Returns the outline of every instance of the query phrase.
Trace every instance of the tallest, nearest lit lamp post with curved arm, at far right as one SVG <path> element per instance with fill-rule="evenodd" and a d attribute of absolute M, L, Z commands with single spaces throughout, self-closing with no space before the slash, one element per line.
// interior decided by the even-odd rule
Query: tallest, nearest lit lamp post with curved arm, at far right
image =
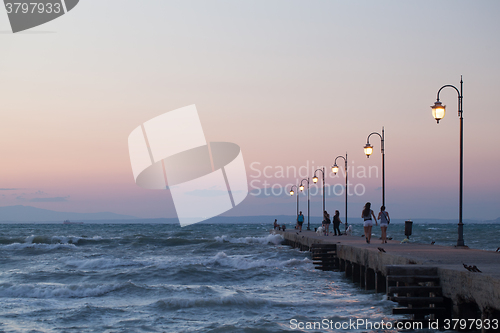
<path fill-rule="evenodd" d="M 463 182 L 464 182 L 464 127 L 463 127 L 463 109 L 462 109 L 462 100 L 463 100 L 463 86 L 464 82 L 462 80 L 462 76 L 460 76 L 460 90 L 457 87 L 447 84 L 439 88 L 437 93 L 437 99 L 432 108 L 432 116 L 436 119 L 437 123 L 444 118 L 446 113 L 446 105 L 442 105 L 439 101 L 439 93 L 443 88 L 450 87 L 455 89 L 458 93 L 458 117 L 460 118 L 460 194 L 459 194 L 459 205 L 458 205 L 458 240 L 457 246 L 465 246 L 464 243 L 464 224 L 462 222 L 462 202 L 463 202 Z"/>

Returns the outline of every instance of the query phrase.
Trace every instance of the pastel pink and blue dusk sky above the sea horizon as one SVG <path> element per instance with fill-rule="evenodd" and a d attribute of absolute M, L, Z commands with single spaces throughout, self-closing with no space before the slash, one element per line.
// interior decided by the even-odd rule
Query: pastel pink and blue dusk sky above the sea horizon
<path fill-rule="evenodd" d="M 442 91 L 439 125 L 430 106 L 463 75 L 464 218 L 495 219 L 499 14 L 498 1 L 82 0 L 13 34 L 0 10 L 0 206 L 176 217 L 169 191 L 135 184 L 127 138 L 196 104 L 207 141 L 238 144 L 245 161 L 250 194 L 224 215 L 293 215 L 289 185 L 346 152 L 349 216 L 378 208 L 381 142 L 370 158 L 363 146 L 384 127 L 387 210 L 456 219 L 456 91 Z M 311 189 L 311 215 L 321 202 Z"/>

